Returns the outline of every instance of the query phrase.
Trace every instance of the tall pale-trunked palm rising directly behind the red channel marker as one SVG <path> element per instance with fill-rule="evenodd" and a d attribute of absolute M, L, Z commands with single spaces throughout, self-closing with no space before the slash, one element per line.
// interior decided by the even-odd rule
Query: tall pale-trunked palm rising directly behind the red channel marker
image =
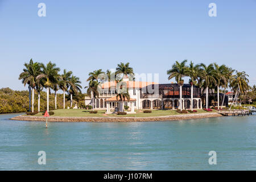
<path fill-rule="evenodd" d="M 47 65 L 41 64 L 42 66 L 42 73 L 37 76 L 37 78 L 44 79 L 44 86 L 47 90 L 47 111 L 49 112 L 49 88 L 57 82 L 58 72 L 60 71 L 60 68 L 56 67 L 55 63 L 52 63 L 49 61 Z"/>

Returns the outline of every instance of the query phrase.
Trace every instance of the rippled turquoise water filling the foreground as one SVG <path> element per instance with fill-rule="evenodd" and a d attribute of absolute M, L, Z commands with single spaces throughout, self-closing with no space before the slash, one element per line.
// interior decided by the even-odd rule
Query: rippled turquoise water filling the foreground
<path fill-rule="evenodd" d="M 256 170 L 256 115 L 48 129 L 8 120 L 15 115 L 0 114 L 0 170 Z M 212 150 L 216 165 L 208 164 Z"/>

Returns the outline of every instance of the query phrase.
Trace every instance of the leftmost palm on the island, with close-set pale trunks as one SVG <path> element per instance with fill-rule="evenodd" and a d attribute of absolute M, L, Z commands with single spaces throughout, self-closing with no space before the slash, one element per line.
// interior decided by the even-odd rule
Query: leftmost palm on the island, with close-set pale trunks
<path fill-rule="evenodd" d="M 19 80 L 22 79 L 24 86 L 26 84 L 29 85 L 29 90 L 32 88 L 32 112 L 34 113 L 34 97 L 35 97 L 35 87 L 36 87 L 36 77 L 40 74 L 40 63 L 33 62 L 30 60 L 30 63 L 25 63 L 24 66 L 26 68 L 23 69 L 23 72 L 19 75 Z M 31 95 L 31 91 L 30 91 Z M 30 103 L 31 103 L 31 96 L 30 96 Z"/>

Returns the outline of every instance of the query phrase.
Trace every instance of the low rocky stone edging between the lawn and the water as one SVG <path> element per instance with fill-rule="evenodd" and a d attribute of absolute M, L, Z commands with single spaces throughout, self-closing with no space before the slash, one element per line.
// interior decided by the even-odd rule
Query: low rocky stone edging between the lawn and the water
<path fill-rule="evenodd" d="M 150 121 L 175 121 L 184 119 L 200 119 L 222 117 L 218 113 L 167 115 L 160 117 L 48 117 L 48 122 L 150 122 Z M 19 115 L 11 118 L 19 121 L 46 121 L 45 117 Z"/>

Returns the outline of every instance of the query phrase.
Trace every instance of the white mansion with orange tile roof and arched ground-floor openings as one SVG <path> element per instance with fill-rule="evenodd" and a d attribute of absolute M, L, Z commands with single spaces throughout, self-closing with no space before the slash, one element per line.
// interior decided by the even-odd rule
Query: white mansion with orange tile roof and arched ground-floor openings
<path fill-rule="evenodd" d="M 130 113 L 134 109 L 178 109 L 179 107 L 179 86 L 177 84 L 158 84 L 155 82 L 129 81 L 126 82 L 130 101 L 124 104 L 129 106 Z M 94 101 L 94 109 L 104 109 L 107 113 L 119 108 L 117 92 L 115 92 L 116 82 L 104 82 L 99 98 Z M 153 91 L 153 92 L 152 92 Z M 184 84 L 182 88 L 183 109 L 191 109 L 191 85 Z M 92 105 L 92 98 L 85 97 L 85 105 Z M 193 86 L 193 109 L 202 109 L 201 89 Z"/>

